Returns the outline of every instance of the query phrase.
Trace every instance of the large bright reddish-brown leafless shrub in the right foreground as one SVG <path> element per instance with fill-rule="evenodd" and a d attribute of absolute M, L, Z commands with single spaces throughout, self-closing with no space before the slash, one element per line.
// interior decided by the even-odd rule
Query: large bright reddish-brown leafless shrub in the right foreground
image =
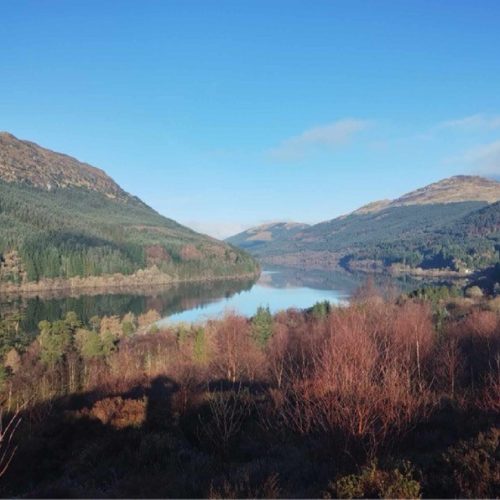
<path fill-rule="evenodd" d="M 300 433 L 341 430 L 382 444 L 427 406 L 421 359 L 432 338 L 430 312 L 419 304 L 365 302 L 334 311 L 328 334 L 308 351 L 313 369 L 289 372 L 282 419 Z"/>

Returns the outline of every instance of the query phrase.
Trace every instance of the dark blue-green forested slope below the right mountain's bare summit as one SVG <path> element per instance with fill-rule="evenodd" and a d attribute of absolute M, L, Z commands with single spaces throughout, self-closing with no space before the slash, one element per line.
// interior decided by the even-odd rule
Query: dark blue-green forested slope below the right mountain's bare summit
<path fill-rule="evenodd" d="M 250 250 L 263 257 L 332 252 L 348 269 L 357 261 L 375 261 L 383 267 L 465 271 L 498 263 L 499 249 L 500 203 L 461 202 L 354 213 Z"/>

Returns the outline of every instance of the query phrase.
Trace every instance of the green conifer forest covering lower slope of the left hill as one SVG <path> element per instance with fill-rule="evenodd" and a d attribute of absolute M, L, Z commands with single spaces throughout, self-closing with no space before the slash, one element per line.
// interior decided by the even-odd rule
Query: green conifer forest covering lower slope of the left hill
<path fill-rule="evenodd" d="M 175 278 L 256 272 L 243 252 L 199 235 L 129 197 L 0 182 L 0 282 L 132 274 Z"/>

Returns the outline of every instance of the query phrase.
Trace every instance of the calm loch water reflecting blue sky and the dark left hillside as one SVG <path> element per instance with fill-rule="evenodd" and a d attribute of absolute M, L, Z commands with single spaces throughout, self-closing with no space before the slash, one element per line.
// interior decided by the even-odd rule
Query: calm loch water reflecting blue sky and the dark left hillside
<path fill-rule="evenodd" d="M 95 315 L 123 316 L 129 311 L 139 315 L 149 309 L 158 311 L 163 318 L 161 324 L 198 322 L 217 318 L 226 311 L 251 316 L 259 306 L 269 306 L 276 312 L 291 307 L 307 308 L 324 300 L 338 303 L 348 299 L 365 278 L 340 271 L 268 268 L 257 282 L 188 283 L 159 289 L 133 289 L 132 293 L 114 289 L 75 296 L 0 296 L 0 317 L 21 313 L 22 331 L 27 335 L 37 332 L 39 321 L 55 321 L 68 311 L 75 311 L 85 323 Z M 409 286 L 403 283 L 400 288 Z"/>

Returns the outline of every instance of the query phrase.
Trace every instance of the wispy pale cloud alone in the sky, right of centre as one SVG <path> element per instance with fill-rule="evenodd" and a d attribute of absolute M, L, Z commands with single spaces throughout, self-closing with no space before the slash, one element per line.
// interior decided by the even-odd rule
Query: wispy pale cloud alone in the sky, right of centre
<path fill-rule="evenodd" d="M 293 161 L 315 147 L 335 148 L 348 143 L 352 137 L 371 125 L 369 120 L 346 118 L 333 123 L 313 127 L 299 135 L 289 137 L 269 150 L 269 155 L 280 161 Z"/>

